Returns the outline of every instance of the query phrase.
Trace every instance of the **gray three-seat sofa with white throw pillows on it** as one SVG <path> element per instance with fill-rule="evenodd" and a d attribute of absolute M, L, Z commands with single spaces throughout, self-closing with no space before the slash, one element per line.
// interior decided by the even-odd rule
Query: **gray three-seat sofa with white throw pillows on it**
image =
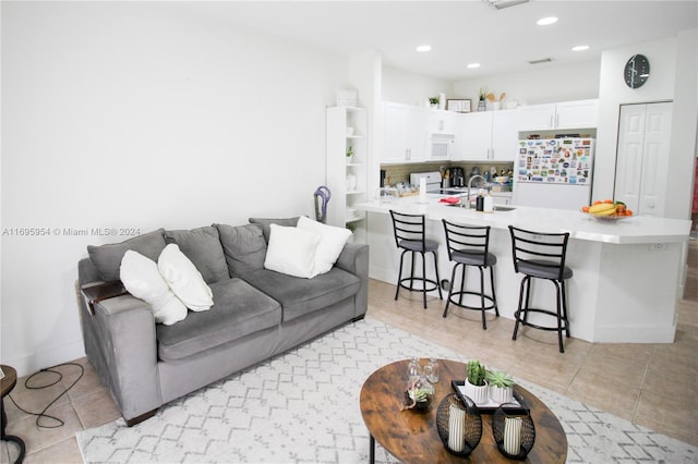
<path fill-rule="evenodd" d="M 264 268 L 269 224 L 298 218 L 250 219 L 194 230 L 157 230 L 122 243 L 89 246 L 79 262 L 80 288 L 119 280 L 127 249 L 153 260 L 176 242 L 213 291 L 210 310 L 156 323 L 148 305 L 124 294 L 80 298 L 85 352 L 128 425 L 157 408 L 297 346 L 346 322 L 368 306 L 369 247 L 347 243 L 329 272 L 302 279 Z"/>

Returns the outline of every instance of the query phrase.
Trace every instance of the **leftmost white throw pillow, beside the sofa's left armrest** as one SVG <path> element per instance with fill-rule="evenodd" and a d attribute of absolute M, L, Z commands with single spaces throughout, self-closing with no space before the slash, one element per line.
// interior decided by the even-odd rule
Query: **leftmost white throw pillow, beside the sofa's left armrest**
<path fill-rule="evenodd" d="M 129 249 L 121 258 L 120 274 L 129 293 L 151 305 L 156 322 L 171 326 L 186 317 L 186 306 L 172 293 L 153 259 Z"/>

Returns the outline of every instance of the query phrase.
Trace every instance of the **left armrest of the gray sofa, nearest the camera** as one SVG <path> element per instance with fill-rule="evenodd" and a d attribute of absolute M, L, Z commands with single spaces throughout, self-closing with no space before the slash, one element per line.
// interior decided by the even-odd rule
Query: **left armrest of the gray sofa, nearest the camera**
<path fill-rule="evenodd" d="M 143 301 L 122 295 L 94 305 L 94 316 L 83 313 L 85 351 L 101 366 L 124 419 L 130 420 L 163 404 L 157 366 L 155 318 Z M 89 345 L 87 343 L 89 339 Z M 93 362 L 93 364 L 95 364 Z"/>

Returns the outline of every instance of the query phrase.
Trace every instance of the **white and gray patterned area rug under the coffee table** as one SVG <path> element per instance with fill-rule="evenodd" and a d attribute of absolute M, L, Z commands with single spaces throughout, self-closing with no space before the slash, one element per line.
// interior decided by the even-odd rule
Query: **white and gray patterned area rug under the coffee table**
<path fill-rule="evenodd" d="M 79 432 L 77 442 L 86 463 L 368 462 L 361 386 L 375 369 L 410 356 L 467 361 L 366 319 L 163 406 L 135 427 L 118 419 Z M 559 418 L 567 462 L 698 461 L 696 447 L 521 384 Z M 376 462 L 396 462 L 377 443 L 375 455 Z"/>

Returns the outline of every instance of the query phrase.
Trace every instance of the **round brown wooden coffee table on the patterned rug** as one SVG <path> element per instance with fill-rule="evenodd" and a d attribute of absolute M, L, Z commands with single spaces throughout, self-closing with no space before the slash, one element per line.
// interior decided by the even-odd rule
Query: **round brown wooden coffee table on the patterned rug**
<path fill-rule="evenodd" d="M 421 359 L 422 365 L 424 359 Z M 434 398 L 424 412 L 400 411 L 405 401 L 407 365 L 404 359 L 388 364 L 373 373 L 361 388 L 360 405 L 363 422 L 371 434 L 371 463 L 374 462 L 375 442 L 402 462 L 444 463 L 462 462 L 450 454 L 438 437 L 436 410 L 441 401 L 453 393 L 452 380 L 465 380 L 466 365 L 438 359 L 441 379 L 434 383 Z M 535 395 L 515 387 L 516 393 L 531 411 L 535 425 L 535 444 L 527 456 L 531 463 L 564 463 L 567 459 L 567 437 L 557 417 Z M 492 414 L 482 414 L 482 438 L 470 454 L 472 462 L 514 462 L 497 449 L 492 437 Z"/>

